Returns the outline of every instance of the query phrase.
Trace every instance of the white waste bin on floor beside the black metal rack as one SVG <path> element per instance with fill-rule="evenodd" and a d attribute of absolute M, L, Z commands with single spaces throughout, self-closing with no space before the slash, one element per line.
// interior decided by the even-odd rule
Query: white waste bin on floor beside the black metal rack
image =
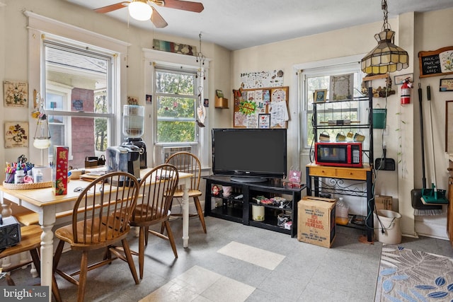
<path fill-rule="evenodd" d="M 377 210 L 377 215 L 374 213 L 374 235 L 382 243 L 401 243 L 401 214 L 396 211 Z"/>

